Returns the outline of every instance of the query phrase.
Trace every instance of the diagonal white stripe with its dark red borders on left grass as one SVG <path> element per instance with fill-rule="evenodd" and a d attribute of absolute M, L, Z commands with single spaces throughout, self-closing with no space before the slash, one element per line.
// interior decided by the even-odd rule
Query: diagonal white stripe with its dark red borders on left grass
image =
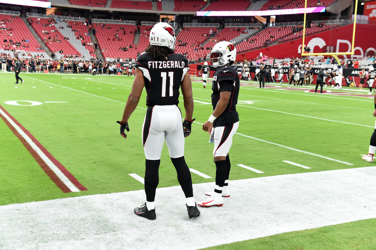
<path fill-rule="evenodd" d="M 38 162 L 43 171 L 64 192 L 79 192 L 87 189 L 45 149 L 29 131 L 0 105 L 0 117 Z"/>

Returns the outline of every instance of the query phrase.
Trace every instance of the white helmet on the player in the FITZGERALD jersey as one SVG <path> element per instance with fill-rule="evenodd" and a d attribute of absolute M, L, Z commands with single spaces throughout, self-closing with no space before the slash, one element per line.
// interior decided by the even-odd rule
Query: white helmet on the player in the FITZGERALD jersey
<path fill-rule="evenodd" d="M 150 45 L 166 46 L 170 49 L 174 49 L 175 41 L 175 30 L 167 23 L 157 23 L 150 30 Z"/>

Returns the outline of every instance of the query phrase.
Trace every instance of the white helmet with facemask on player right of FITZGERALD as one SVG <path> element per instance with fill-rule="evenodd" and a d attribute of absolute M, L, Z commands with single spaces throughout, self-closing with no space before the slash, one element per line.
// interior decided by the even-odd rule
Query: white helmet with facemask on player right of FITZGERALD
<path fill-rule="evenodd" d="M 218 68 L 224 66 L 229 62 L 235 62 L 236 59 L 236 48 L 235 46 L 227 41 L 221 41 L 214 45 L 212 51 L 210 52 L 209 63 L 210 66 Z"/>

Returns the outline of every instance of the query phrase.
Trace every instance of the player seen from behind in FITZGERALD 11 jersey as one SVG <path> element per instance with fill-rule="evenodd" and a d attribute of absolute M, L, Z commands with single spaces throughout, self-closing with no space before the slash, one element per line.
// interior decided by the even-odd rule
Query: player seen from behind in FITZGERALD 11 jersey
<path fill-rule="evenodd" d="M 158 168 L 161 152 L 166 142 L 171 161 L 177 172 L 177 179 L 186 197 L 186 208 L 190 218 L 200 215 L 194 202 L 190 170 L 184 159 L 184 137 L 191 133 L 193 123 L 192 83 L 188 60 L 182 54 L 174 53 L 174 29 L 167 23 L 156 24 L 150 30 L 150 45 L 137 57 L 135 80 L 124 109 L 120 134 L 126 138 L 128 120 L 139 102 L 145 87 L 147 111 L 142 128 L 142 140 L 146 156 L 145 193 L 146 202 L 134 209 L 136 215 L 154 220 L 155 190 L 158 186 Z M 181 87 L 185 120 L 177 107 Z"/>

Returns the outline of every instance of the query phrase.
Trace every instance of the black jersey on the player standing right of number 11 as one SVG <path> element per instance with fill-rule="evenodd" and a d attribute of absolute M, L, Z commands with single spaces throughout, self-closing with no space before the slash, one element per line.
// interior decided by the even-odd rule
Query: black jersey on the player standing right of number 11
<path fill-rule="evenodd" d="M 229 103 L 223 113 L 213 122 L 213 127 L 223 127 L 239 121 L 239 115 L 236 111 L 238 103 L 240 81 L 236 69 L 231 66 L 223 66 L 215 71 L 213 76 L 211 95 L 213 110 L 220 99 L 220 93 L 223 91 L 231 92 Z"/>

